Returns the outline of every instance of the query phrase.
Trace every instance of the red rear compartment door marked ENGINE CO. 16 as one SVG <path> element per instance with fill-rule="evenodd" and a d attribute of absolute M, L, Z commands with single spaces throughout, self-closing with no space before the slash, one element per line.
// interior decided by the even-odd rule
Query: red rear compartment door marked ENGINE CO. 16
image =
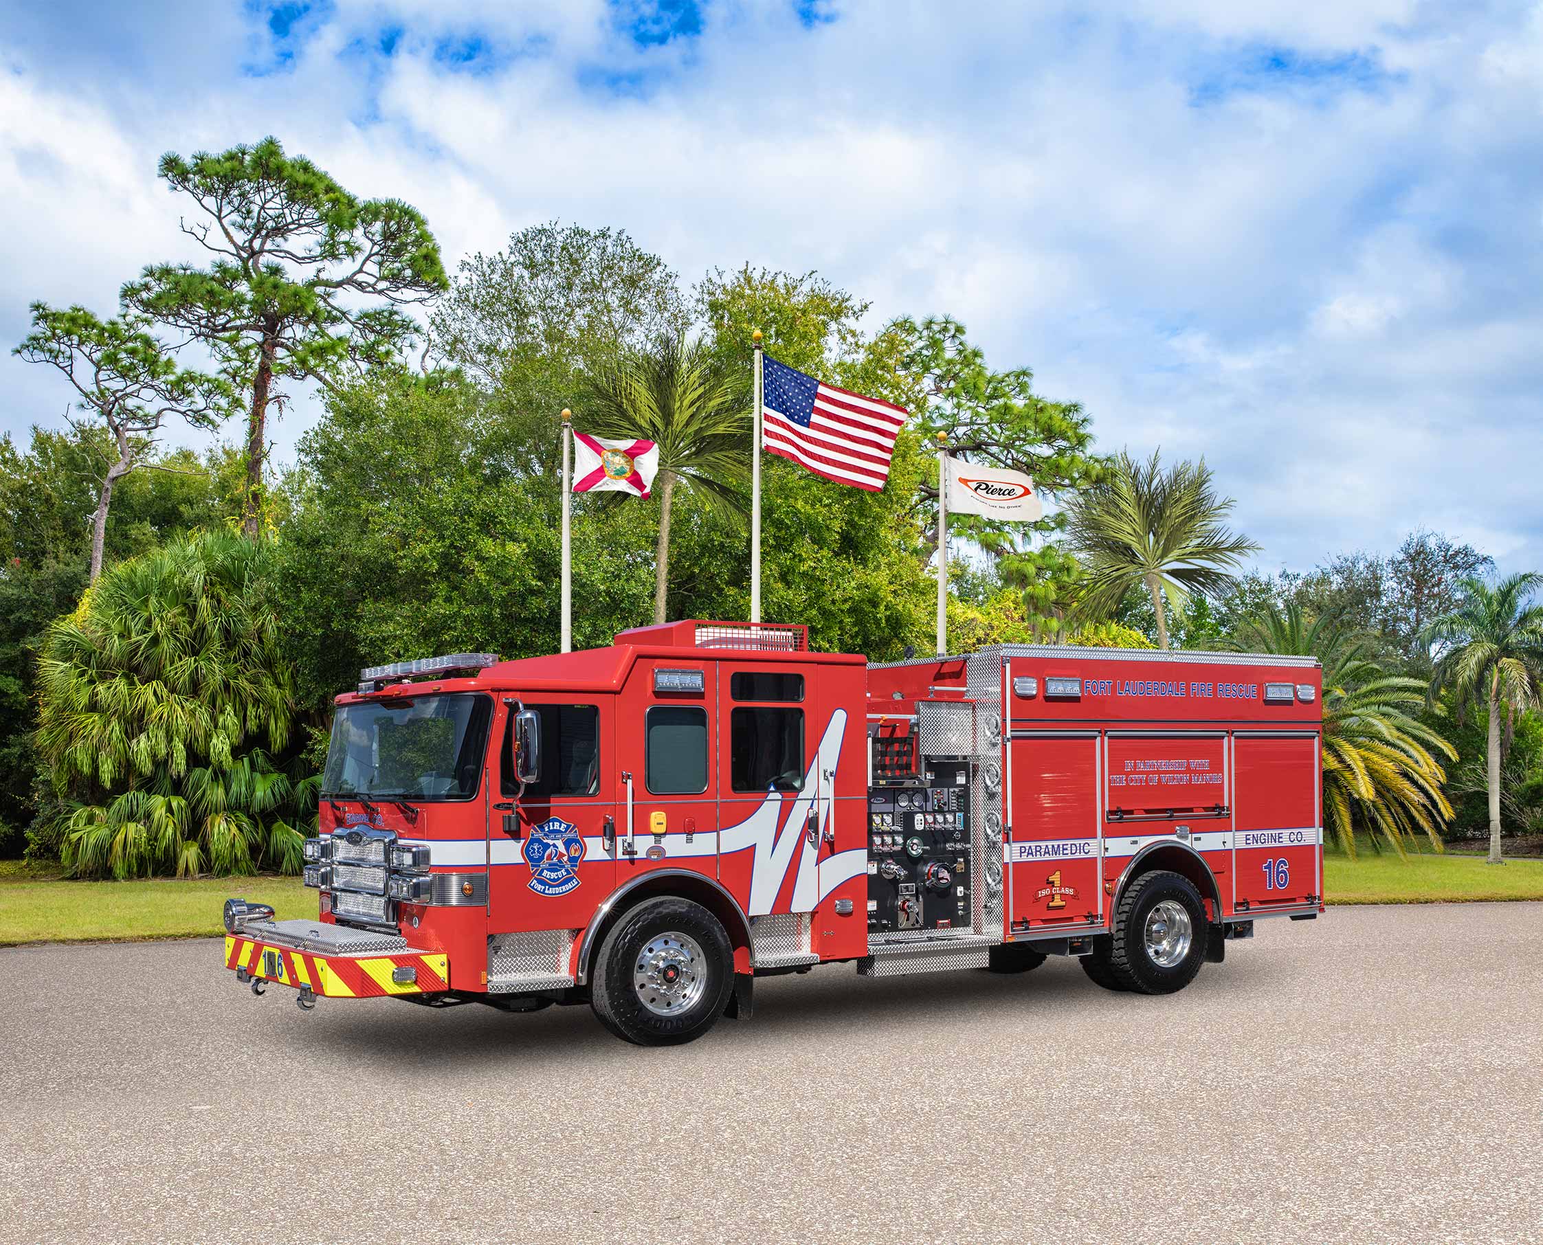
<path fill-rule="evenodd" d="M 1233 737 L 1233 779 L 1234 909 L 1316 903 L 1322 895 L 1318 736 L 1239 731 Z"/>

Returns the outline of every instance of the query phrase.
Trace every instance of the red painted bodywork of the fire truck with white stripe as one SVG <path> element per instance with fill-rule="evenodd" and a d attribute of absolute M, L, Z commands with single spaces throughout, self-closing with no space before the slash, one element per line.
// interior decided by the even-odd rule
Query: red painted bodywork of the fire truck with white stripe
<path fill-rule="evenodd" d="M 432 872 L 486 881 L 485 904 L 400 907 L 401 933 L 414 947 L 447 957 L 457 990 L 486 989 L 494 935 L 568 930 L 568 969 L 577 977 L 585 930 L 620 890 L 660 872 L 721 887 L 751 921 L 807 913 L 809 949 L 821 960 L 864 957 L 869 728 L 883 741 L 872 764 L 901 757 L 915 741 L 917 702 L 964 702 L 980 659 L 971 668 L 946 659 L 869 670 L 863 657 L 802 651 L 801 637 L 785 651 L 751 651 L 733 646 L 734 634 L 745 634 L 745 625 L 640 628 L 609 648 L 501 662 L 475 677 L 373 693 L 491 696 L 481 785 L 468 801 L 420 804 L 415 821 L 392 804 L 366 813 L 355 799 L 324 801 L 321 832 L 360 822 L 384 827 L 429 844 Z M 1001 779 L 1000 796 L 992 796 L 1003 821 L 994 849 L 1003 864 L 1001 929 L 984 932 L 1034 938 L 1103 929 L 1122 876 L 1153 850 L 1193 861 L 1214 918 L 1321 901 L 1316 668 L 1168 660 L 1139 651 L 1001 653 L 991 696 L 1001 720 L 989 731 L 984 719 L 977 724 L 974 753 L 981 771 L 995 767 Z M 704 690 L 656 693 L 660 668 L 702 671 Z M 734 673 L 801 674 L 802 699 L 734 699 Z M 1015 691 L 1021 679 L 1034 680 L 1034 694 Z M 1048 694 L 1049 679 L 1074 679 L 1077 694 Z M 1265 703 L 1267 682 L 1312 691 Z M 593 795 L 522 796 L 505 771 L 511 761 L 501 747 L 515 702 L 596 707 Z M 801 790 L 734 790 L 733 714 L 768 705 L 802 714 Z M 704 790 L 650 790 L 650 713 L 671 707 L 705 717 Z M 582 841 L 583 852 L 572 862 L 571 886 L 543 889 L 532 881 L 528 849 L 532 832 L 554 822 Z M 850 901 L 842 904 L 850 910 L 838 915 L 838 901 Z M 750 969 L 745 947 L 736 960 L 741 970 Z"/>

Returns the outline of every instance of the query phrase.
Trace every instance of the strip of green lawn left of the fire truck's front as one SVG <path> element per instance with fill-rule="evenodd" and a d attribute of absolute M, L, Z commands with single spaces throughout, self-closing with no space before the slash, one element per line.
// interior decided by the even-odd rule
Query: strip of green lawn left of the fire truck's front
<path fill-rule="evenodd" d="M 273 904 L 279 919 L 316 915 L 316 892 L 299 878 L 71 882 L 3 861 L 0 946 L 213 936 L 233 895 Z"/>

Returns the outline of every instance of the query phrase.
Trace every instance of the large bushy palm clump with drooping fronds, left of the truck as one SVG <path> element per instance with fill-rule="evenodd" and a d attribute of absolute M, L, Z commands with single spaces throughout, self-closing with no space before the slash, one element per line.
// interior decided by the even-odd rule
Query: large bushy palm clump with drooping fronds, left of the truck
<path fill-rule="evenodd" d="M 315 779 L 272 757 L 295 676 L 270 565 L 272 545 L 225 532 L 173 542 L 108 568 L 49 628 L 37 744 L 73 808 L 60 855 L 76 873 L 299 872 Z"/>

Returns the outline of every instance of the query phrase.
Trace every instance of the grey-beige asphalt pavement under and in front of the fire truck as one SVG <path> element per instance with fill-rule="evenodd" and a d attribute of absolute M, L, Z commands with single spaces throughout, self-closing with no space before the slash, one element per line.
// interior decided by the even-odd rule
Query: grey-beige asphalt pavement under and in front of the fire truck
<path fill-rule="evenodd" d="M 0 952 L 0 1242 L 1543 1240 L 1543 904 L 1261 921 L 1187 990 L 756 986 L 586 1007 L 264 998 L 221 943 Z"/>

